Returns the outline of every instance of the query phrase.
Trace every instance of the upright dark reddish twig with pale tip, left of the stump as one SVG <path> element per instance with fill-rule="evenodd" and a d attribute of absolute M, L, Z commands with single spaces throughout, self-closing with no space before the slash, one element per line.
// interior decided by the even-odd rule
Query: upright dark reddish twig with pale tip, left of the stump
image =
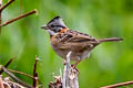
<path fill-rule="evenodd" d="M 38 85 L 38 73 L 37 73 L 38 61 L 39 61 L 39 58 L 35 57 L 35 63 L 34 63 L 34 67 L 33 67 L 33 88 L 37 88 L 37 85 Z"/>

